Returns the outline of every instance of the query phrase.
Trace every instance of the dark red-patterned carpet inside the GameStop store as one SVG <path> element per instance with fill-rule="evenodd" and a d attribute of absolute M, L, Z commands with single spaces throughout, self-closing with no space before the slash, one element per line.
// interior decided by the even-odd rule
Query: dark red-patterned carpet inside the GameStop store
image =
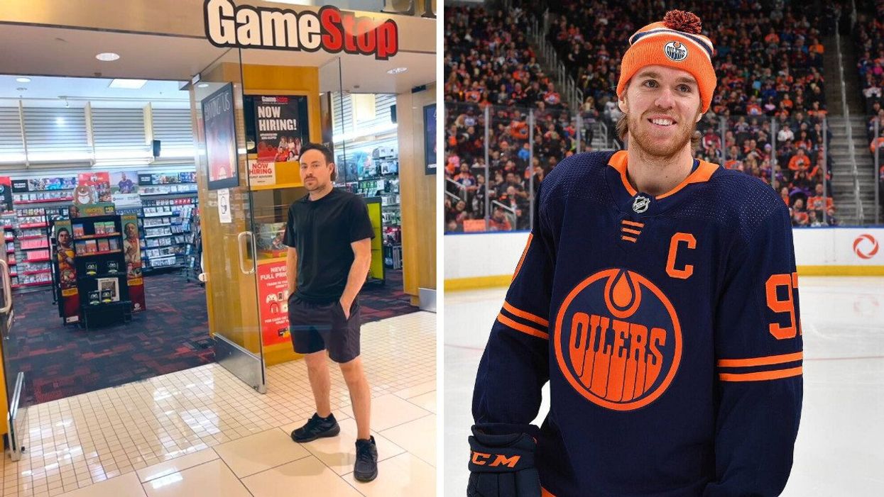
<path fill-rule="evenodd" d="M 6 373 L 25 372 L 27 405 L 145 380 L 213 362 L 205 290 L 176 273 L 144 279 L 148 311 L 127 325 L 63 326 L 49 291 L 16 295 L 15 324 L 4 341 Z M 164 289 L 174 288 L 174 292 Z M 363 322 L 418 310 L 402 291 L 402 272 L 360 295 Z M 10 379 L 11 380 L 11 379 Z"/>

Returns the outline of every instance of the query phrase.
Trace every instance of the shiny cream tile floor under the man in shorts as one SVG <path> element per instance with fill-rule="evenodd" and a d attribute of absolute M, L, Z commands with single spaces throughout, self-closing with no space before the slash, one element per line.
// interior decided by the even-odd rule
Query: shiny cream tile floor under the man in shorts
<path fill-rule="evenodd" d="M 35 405 L 25 457 L 3 458 L 3 497 L 434 495 L 436 315 L 362 327 L 378 477 L 353 478 L 355 421 L 331 364 L 341 433 L 294 443 L 315 410 L 307 368 L 267 369 L 260 395 L 217 364 Z"/>

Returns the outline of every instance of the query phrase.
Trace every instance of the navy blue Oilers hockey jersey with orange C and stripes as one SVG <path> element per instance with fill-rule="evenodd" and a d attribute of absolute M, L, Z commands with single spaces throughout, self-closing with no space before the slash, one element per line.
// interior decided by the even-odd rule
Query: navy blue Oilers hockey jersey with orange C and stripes
<path fill-rule="evenodd" d="M 709 162 L 657 197 L 626 171 L 626 151 L 596 152 L 545 178 L 476 425 L 532 433 L 555 497 L 777 495 L 802 400 L 789 210 Z"/>

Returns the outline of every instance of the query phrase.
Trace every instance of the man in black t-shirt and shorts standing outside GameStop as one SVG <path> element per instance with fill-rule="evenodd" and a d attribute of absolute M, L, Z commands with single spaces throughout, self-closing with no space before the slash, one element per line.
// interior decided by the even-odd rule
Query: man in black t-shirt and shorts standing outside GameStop
<path fill-rule="evenodd" d="M 335 190 L 331 151 L 322 145 L 301 148 L 301 181 L 309 192 L 288 208 L 286 268 L 288 319 L 294 351 L 304 354 L 316 414 L 292 432 L 308 442 L 333 437 L 340 427 L 331 414 L 328 357 L 340 365 L 356 418 L 354 477 L 377 477 L 377 448 L 369 428 L 371 390 L 359 357 L 359 302 L 369 273 L 374 230 L 365 202 Z"/>

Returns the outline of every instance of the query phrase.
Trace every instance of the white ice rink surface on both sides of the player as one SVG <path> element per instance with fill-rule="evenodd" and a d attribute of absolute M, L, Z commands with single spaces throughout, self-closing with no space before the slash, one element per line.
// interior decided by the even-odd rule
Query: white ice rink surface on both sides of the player
<path fill-rule="evenodd" d="M 803 277 L 804 407 L 783 495 L 884 495 L 884 278 Z M 506 289 L 445 296 L 445 488 L 466 494 L 476 367 Z M 544 388 L 540 417 L 549 409 Z"/>

